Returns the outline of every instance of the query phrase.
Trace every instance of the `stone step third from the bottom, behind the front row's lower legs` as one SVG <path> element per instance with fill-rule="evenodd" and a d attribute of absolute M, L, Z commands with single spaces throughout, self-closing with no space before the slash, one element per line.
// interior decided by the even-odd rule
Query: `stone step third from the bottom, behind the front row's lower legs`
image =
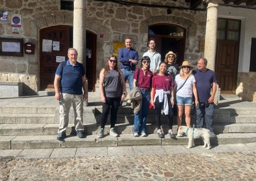
<path fill-rule="evenodd" d="M 84 123 L 93 124 L 100 123 L 101 114 L 96 114 L 91 110 L 84 111 Z M 150 114 L 147 117 L 147 123 L 155 123 L 154 114 Z M 184 120 L 183 116 L 183 120 Z M 167 122 L 168 118 L 166 116 L 161 117 L 162 122 Z M 173 117 L 174 123 L 176 123 L 177 117 Z M 59 114 L 0 114 L 0 124 L 58 124 Z M 110 115 L 108 118 L 108 123 L 110 122 Z M 194 115 L 191 114 L 191 122 L 194 122 Z M 70 123 L 74 123 L 74 114 L 70 112 Z M 133 114 L 118 114 L 118 120 L 116 123 L 131 123 L 134 124 L 134 115 Z M 239 115 L 239 116 L 230 116 L 226 112 L 216 111 L 214 115 L 214 123 L 256 123 L 256 114 L 255 115 Z"/>

